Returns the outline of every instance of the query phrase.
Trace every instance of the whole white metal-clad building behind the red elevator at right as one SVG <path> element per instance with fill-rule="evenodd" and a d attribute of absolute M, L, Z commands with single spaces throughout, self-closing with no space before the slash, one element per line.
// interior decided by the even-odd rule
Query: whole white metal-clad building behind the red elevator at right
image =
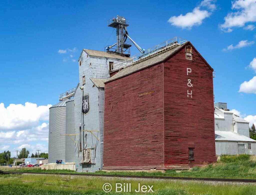
<path fill-rule="evenodd" d="M 249 122 L 227 109 L 227 103 L 215 103 L 216 155 L 256 154 L 256 140 L 250 138 Z"/>

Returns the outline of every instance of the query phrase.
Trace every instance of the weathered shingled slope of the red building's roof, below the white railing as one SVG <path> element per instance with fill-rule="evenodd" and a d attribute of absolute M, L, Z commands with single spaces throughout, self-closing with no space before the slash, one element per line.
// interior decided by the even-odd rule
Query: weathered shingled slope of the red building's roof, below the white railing
<path fill-rule="evenodd" d="M 153 56 L 151 58 L 145 59 L 143 61 L 142 60 L 135 61 L 131 65 L 125 67 L 124 69 L 120 70 L 118 73 L 116 73 L 115 75 L 110 77 L 108 79 L 108 81 L 106 81 L 105 83 L 110 82 L 110 81 L 115 80 L 115 79 L 118 79 L 119 77 L 123 77 L 123 76 L 129 75 L 129 74 L 131 74 L 133 72 L 137 72 L 138 70 L 144 69 L 144 68 L 146 68 L 148 66 L 151 66 L 153 64 L 162 62 L 167 57 L 169 57 L 170 55 L 175 53 L 175 51 L 177 51 L 178 49 L 183 47 L 186 43 L 181 44 L 181 45 L 173 46 L 171 49 L 166 50 L 163 53 L 159 53 L 159 54 L 157 54 L 157 55 L 155 55 L 155 56 Z"/>

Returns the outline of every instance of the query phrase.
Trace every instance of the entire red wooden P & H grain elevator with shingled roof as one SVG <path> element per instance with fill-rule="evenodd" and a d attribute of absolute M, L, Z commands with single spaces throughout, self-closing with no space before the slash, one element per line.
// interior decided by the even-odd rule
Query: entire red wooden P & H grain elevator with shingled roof
<path fill-rule="evenodd" d="M 112 72 L 105 83 L 103 169 L 214 163 L 212 73 L 190 42 Z"/>

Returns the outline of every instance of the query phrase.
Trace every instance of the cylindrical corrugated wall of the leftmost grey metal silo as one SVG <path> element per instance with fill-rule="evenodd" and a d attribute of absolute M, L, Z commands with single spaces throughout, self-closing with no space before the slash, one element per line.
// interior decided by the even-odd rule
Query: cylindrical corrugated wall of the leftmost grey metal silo
<path fill-rule="evenodd" d="M 50 108 L 49 113 L 49 163 L 65 162 L 66 106 Z"/>

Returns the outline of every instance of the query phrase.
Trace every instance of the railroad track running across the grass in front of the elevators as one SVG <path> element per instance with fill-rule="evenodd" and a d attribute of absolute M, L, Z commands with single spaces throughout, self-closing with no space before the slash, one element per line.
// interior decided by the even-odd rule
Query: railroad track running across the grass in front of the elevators
<path fill-rule="evenodd" d="M 94 177 L 120 177 L 138 179 L 172 179 L 172 180 L 196 180 L 196 181 L 222 181 L 222 182 L 241 182 L 256 183 L 256 179 L 221 179 L 221 178 L 195 178 L 195 177 L 160 177 L 160 176 L 132 176 L 132 175 L 98 175 L 98 174 L 75 174 L 75 173 L 42 173 L 42 172 L 13 172 L 4 171 L 0 174 L 51 174 L 51 175 L 75 175 L 75 176 L 94 176 Z"/>

